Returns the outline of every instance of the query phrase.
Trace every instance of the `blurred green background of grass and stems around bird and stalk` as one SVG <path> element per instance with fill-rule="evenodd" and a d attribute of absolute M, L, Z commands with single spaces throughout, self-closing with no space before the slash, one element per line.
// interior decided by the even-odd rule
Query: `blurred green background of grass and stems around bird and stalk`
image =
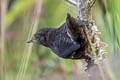
<path fill-rule="evenodd" d="M 97 74 L 89 78 L 81 60 L 64 60 L 44 46 L 26 44 L 36 30 L 63 24 L 67 13 L 76 17 L 73 6 L 64 0 L 0 3 L 1 80 L 101 80 Z M 120 0 L 97 0 L 92 9 L 93 20 L 102 32 L 100 38 L 108 44 L 105 71 L 102 70 L 104 80 L 120 79 L 119 4 Z"/>

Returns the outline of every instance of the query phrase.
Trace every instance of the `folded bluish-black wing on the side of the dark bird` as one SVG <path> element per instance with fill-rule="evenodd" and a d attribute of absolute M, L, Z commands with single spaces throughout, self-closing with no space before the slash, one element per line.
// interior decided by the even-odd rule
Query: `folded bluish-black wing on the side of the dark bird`
<path fill-rule="evenodd" d="M 73 52 L 78 48 L 80 48 L 80 45 L 73 42 L 67 33 L 65 33 L 59 35 L 59 40 L 56 39 L 52 50 L 62 58 L 72 58 Z"/>

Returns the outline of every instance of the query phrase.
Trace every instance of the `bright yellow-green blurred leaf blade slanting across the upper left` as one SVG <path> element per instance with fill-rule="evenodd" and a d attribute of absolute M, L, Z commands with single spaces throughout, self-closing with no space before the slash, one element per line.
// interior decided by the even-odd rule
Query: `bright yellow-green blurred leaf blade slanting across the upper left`
<path fill-rule="evenodd" d="M 35 0 L 19 0 L 15 1 L 12 8 L 6 14 L 6 24 L 9 26 L 27 7 L 32 5 Z"/>

